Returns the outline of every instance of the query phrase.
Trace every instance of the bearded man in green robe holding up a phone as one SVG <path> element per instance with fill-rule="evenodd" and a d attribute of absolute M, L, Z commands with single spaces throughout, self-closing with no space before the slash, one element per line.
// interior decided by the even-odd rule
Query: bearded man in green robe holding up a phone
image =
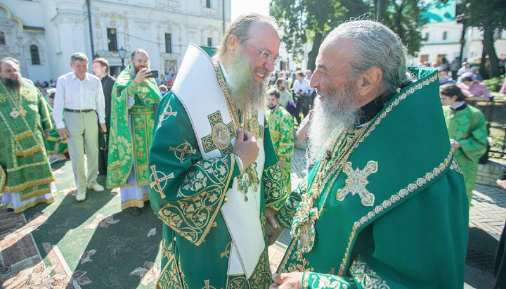
<path fill-rule="evenodd" d="M 121 208 L 134 215 L 149 200 L 148 153 L 161 96 L 151 78 L 148 53 L 137 49 L 111 94 L 108 188 L 119 187 Z"/>

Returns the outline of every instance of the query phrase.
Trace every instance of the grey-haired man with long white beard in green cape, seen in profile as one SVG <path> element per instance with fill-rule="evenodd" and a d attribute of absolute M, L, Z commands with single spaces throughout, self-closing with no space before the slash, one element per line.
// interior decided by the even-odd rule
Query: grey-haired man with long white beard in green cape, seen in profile
<path fill-rule="evenodd" d="M 316 166 L 278 214 L 292 241 L 271 288 L 462 288 L 468 209 L 437 70 L 399 37 L 339 25 L 316 59 Z"/>

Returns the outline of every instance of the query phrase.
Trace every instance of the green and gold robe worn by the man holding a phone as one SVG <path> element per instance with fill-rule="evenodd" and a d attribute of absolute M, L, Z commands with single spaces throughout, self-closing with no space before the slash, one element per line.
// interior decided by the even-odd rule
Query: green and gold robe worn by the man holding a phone
<path fill-rule="evenodd" d="M 136 186 L 149 184 L 148 152 L 153 138 L 155 107 L 161 96 L 154 79 L 146 79 L 139 85 L 134 78 L 129 65 L 119 74 L 112 87 L 108 188 L 126 186 L 126 179 L 134 165 Z M 135 101 L 131 108 L 129 96 Z"/>

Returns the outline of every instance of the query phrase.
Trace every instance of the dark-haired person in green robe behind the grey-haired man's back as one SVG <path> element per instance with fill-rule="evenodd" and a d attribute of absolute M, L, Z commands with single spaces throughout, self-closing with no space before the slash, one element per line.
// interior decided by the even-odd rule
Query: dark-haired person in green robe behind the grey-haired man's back
<path fill-rule="evenodd" d="M 466 96 L 455 84 L 439 88 L 453 156 L 464 173 L 467 199 L 471 205 L 472 191 L 478 172 L 478 160 L 486 151 L 485 116 L 478 108 L 465 103 Z"/>

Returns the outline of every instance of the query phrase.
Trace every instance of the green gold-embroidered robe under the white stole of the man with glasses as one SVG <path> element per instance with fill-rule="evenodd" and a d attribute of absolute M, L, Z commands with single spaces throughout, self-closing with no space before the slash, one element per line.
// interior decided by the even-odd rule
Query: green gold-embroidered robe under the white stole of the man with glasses
<path fill-rule="evenodd" d="M 264 150 L 259 218 L 266 242 L 265 206 L 280 207 L 287 195 L 267 128 Z M 271 284 L 267 249 L 249 279 L 227 275 L 231 235 L 220 208 L 238 176 L 232 154 L 202 159 L 190 118 L 169 91 L 157 110 L 150 149 L 150 203 L 164 223 L 160 288 L 267 288 Z"/>

